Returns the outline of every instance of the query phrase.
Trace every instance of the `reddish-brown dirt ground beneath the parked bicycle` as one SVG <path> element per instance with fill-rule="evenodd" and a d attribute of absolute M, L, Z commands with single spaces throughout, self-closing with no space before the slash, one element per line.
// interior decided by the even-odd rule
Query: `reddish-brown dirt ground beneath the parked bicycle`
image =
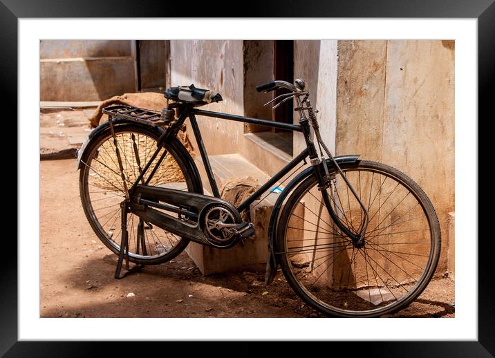
<path fill-rule="evenodd" d="M 98 240 L 79 198 L 75 159 L 41 162 L 41 317 L 321 317 L 281 272 L 203 276 L 184 252 L 122 280 L 117 256 Z M 454 317 L 454 282 L 432 281 L 393 317 Z"/>

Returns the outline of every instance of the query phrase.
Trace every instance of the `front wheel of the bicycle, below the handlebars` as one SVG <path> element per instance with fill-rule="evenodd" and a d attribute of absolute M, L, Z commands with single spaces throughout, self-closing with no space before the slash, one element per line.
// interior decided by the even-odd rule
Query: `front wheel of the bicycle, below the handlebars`
<path fill-rule="evenodd" d="M 364 245 L 353 243 L 328 214 L 325 195 L 351 232 L 359 232 L 363 222 L 359 202 L 334 171 L 330 188 L 319 191 L 312 175 L 290 194 L 277 227 L 276 254 L 288 283 L 312 308 L 339 317 L 391 314 L 418 297 L 436 270 L 435 209 L 397 169 L 364 160 L 341 168 L 368 210 Z"/>

